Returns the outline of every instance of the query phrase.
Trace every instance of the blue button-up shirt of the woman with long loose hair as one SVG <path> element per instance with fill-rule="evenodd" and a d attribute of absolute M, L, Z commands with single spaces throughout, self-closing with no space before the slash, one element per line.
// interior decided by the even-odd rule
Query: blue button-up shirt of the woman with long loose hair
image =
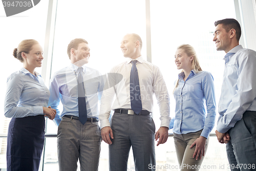
<path fill-rule="evenodd" d="M 216 117 L 214 79 L 209 72 L 194 69 L 186 81 L 184 76 L 184 72 L 179 74 L 179 84 L 174 91 L 176 115 L 173 132 L 187 134 L 203 129 L 201 136 L 208 138 Z"/>

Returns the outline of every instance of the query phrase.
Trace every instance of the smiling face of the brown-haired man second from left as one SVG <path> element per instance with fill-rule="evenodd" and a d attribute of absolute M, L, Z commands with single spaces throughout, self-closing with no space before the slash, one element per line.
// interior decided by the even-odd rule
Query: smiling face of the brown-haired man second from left
<path fill-rule="evenodd" d="M 83 65 L 89 62 L 90 48 L 87 43 L 80 43 L 77 50 L 71 49 L 71 63 Z"/>

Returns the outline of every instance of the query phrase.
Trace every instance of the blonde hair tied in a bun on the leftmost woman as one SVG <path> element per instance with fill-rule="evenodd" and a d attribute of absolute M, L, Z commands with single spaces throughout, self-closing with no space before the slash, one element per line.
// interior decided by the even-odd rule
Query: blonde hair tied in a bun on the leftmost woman
<path fill-rule="evenodd" d="M 26 54 L 29 54 L 29 51 L 31 51 L 32 46 L 35 44 L 39 44 L 39 43 L 34 39 L 23 40 L 18 44 L 17 48 L 14 48 L 12 55 L 14 56 L 14 58 L 18 59 L 20 62 L 23 62 L 22 53 L 24 52 Z"/>

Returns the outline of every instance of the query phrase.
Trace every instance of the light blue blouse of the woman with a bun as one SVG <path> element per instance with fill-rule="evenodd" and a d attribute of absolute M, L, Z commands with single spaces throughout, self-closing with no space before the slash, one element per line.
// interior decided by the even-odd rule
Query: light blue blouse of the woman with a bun
<path fill-rule="evenodd" d="M 7 79 L 5 97 L 6 117 L 25 117 L 44 114 L 42 107 L 47 107 L 50 91 L 41 76 L 32 75 L 21 68 Z"/>

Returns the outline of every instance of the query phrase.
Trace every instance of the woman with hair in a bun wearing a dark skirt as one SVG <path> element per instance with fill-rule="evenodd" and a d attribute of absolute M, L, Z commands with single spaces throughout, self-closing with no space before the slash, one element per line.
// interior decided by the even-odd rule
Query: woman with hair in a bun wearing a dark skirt
<path fill-rule="evenodd" d="M 45 141 L 45 116 L 54 119 L 56 110 L 47 107 L 50 92 L 35 71 L 41 67 L 42 47 L 33 39 L 23 40 L 13 56 L 23 67 L 7 79 L 5 116 L 12 117 L 7 136 L 7 170 L 36 171 Z"/>

